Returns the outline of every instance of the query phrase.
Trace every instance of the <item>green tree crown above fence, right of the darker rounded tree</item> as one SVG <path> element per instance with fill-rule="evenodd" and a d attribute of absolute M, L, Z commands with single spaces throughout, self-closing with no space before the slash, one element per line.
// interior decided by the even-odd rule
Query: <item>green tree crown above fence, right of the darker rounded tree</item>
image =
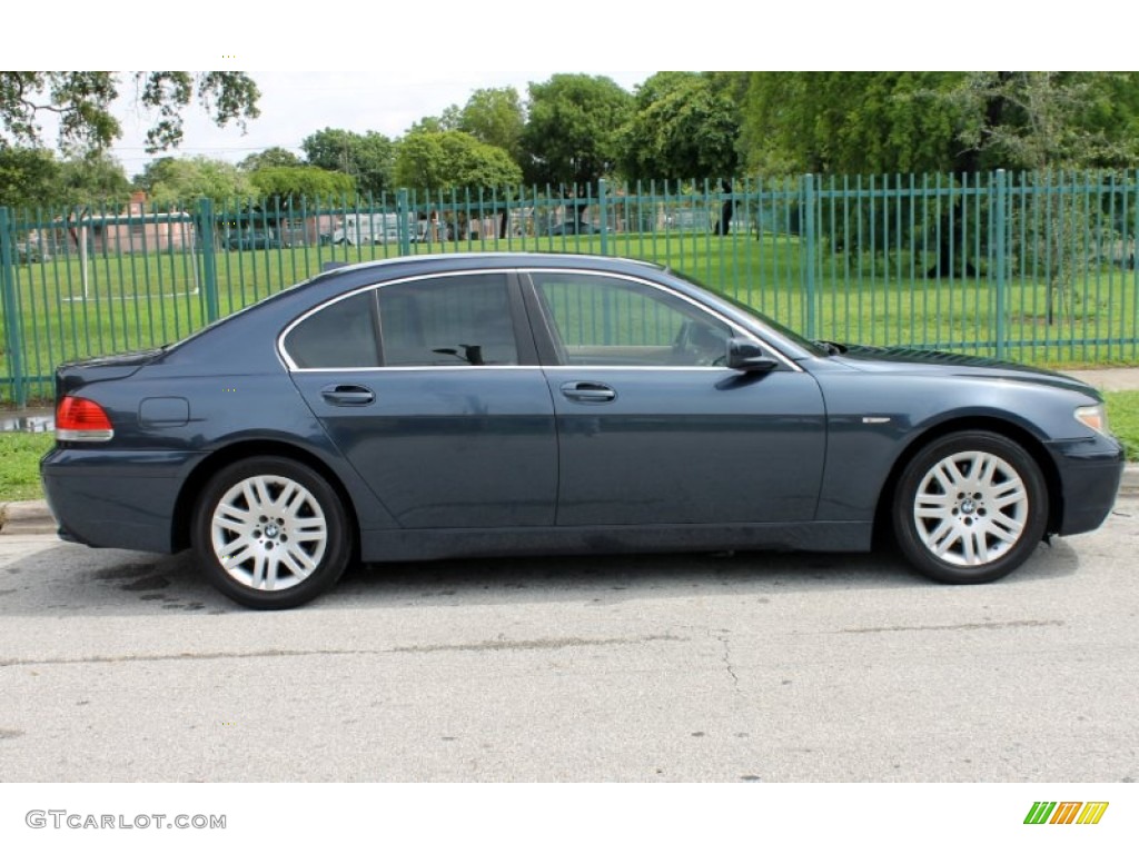
<path fill-rule="evenodd" d="M 738 136 L 737 106 L 711 76 L 659 72 L 637 90 L 621 134 L 621 171 L 629 180 L 731 178 Z"/>

